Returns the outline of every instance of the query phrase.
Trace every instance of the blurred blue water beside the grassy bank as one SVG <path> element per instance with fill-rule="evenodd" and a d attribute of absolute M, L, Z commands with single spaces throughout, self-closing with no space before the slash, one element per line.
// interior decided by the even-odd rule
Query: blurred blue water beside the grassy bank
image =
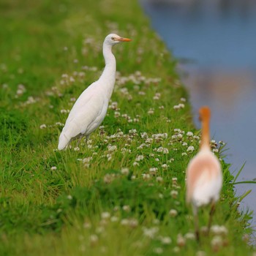
<path fill-rule="evenodd" d="M 238 181 L 256 177 L 256 1 L 140 0 L 152 26 L 173 55 L 197 110 L 212 110 L 211 137 L 227 143 L 226 162 Z M 256 185 L 236 185 L 237 195 L 252 189 L 241 208 L 254 211 Z"/>

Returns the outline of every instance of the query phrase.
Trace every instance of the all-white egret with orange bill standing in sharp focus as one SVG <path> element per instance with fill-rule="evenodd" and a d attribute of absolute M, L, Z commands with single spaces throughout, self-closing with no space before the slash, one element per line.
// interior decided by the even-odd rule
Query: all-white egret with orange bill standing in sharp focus
<path fill-rule="evenodd" d="M 59 150 L 68 143 L 82 136 L 89 138 L 99 124 L 102 123 L 108 109 L 108 102 L 116 81 L 116 59 L 112 53 L 113 45 L 118 42 L 129 42 L 131 39 L 109 34 L 103 42 L 103 56 L 105 69 L 99 80 L 92 83 L 78 97 L 72 110 L 70 110 L 66 124 L 59 136 Z"/>

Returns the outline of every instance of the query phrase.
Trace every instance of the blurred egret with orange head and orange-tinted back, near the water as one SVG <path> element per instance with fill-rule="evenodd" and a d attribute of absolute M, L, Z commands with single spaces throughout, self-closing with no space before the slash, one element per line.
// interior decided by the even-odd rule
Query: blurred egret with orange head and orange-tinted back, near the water
<path fill-rule="evenodd" d="M 202 107 L 199 110 L 202 123 L 202 138 L 200 151 L 189 162 L 187 167 L 187 202 L 192 203 L 195 216 L 195 236 L 199 240 L 197 210 L 200 206 L 211 203 L 208 230 L 215 210 L 215 202 L 219 199 L 222 189 L 222 168 L 219 159 L 211 152 L 210 147 L 210 118 L 211 110 Z"/>

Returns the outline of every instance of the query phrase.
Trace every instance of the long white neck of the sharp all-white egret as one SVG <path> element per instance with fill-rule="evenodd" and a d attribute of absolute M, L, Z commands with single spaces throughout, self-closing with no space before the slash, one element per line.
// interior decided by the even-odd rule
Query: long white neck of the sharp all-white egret
<path fill-rule="evenodd" d="M 110 99 L 116 82 L 116 58 L 112 53 L 112 45 L 103 44 L 103 56 L 105 69 L 99 78 L 100 86 L 105 87 L 108 99 Z"/>

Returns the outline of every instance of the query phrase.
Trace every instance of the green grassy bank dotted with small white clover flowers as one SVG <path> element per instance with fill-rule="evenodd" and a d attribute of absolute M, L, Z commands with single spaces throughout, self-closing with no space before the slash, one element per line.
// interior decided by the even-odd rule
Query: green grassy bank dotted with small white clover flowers
<path fill-rule="evenodd" d="M 228 233 L 189 238 L 184 176 L 200 132 L 176 60 L 137 1 L 2 0 L 0 23 L 0 255 L 252 255 L 250 214 L 237 209 L 224 161 L 214 225 Z M 63 110 L 99 77 L 110 32 L 132 42 L 114 48 L 120 73 L 104 127 L 89 146 L 56 151 Z"/>

